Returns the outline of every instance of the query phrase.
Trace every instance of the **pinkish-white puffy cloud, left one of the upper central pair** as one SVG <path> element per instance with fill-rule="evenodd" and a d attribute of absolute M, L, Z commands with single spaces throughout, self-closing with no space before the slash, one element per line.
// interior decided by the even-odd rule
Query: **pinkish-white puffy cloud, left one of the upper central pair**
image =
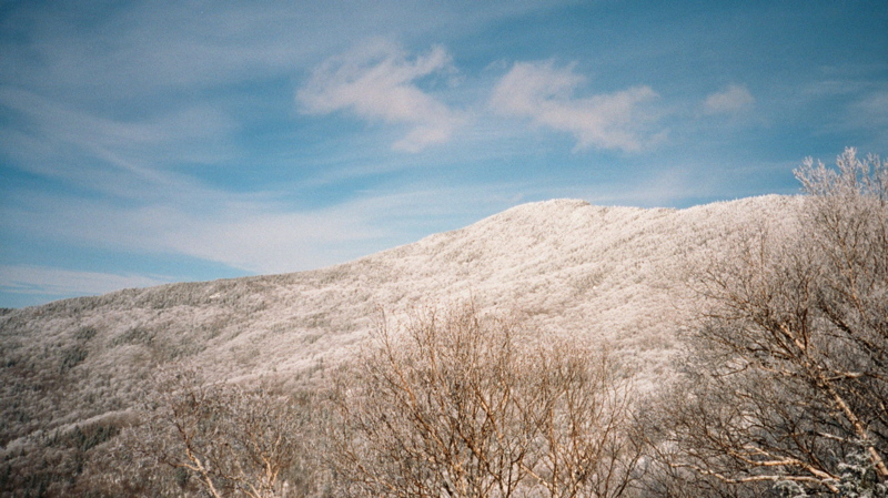
<path fill-rule="evenodd" d="M 366 120 L 411 125 L 393 148 L 418 152 L 450 140 L 463 121 L 416 85 L 422 78 L 452 70 L 451 57 L 441 47 L 411 60 L 392 43 L 374 42 L 315 68 L 296 100 L 306 113 L 350 110 Z"/>

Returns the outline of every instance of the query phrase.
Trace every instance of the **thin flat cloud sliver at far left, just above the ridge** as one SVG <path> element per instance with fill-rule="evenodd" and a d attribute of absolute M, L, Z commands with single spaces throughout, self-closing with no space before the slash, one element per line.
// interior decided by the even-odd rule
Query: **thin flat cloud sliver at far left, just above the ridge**
<path fill-rule="evenodd" d="M 104 294 L 130 287 L 172 282 L 169 277 L 100 272 L 78 272 L 47 266 L 0 265 L 0 289 L 12 294 L 70 296 Z"/>

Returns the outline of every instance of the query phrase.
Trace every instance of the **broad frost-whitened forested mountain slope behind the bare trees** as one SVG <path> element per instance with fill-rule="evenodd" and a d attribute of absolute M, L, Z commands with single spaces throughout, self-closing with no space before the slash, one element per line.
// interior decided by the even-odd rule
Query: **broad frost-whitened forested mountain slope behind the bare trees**
<path fill-rule="evenodd" d="M 693 308 L 686 272 L 799 197 L 687 210 L 521 205 L 454 232 L 303 273 L 127 289 L 0 316 L 0 445 L 125 410 L 159 365 L 301 382 L 347 360 L 380 311 L 473 299 L 602 341 L 644 388 L 668 376 Z"/>

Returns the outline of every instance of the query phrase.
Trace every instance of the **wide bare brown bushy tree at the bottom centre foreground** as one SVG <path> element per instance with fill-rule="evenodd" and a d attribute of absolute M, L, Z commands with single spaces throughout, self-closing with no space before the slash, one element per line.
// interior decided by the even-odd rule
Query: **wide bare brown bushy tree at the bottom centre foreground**
<path fill-rule="evenodd" d="M 616 497 L 628 394 L 605 352 L 472 305 L 417 314 L 340 376 L 334 464 L 354 496 Z"/>

